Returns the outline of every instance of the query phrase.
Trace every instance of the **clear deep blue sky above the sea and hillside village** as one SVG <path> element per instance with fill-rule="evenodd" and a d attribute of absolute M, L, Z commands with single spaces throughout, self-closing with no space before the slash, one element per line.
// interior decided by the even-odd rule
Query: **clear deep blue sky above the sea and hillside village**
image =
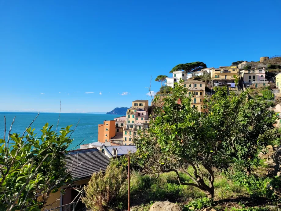
<path fill-rule="evenodd" d="M 110 111 L 179 63 L 281 54 L 281 2 L 0 0 L 0 110 Z M 94 92 L 94 93 L 86 93 Z M 122 95 L 123 93 L 123 95 Z"/>

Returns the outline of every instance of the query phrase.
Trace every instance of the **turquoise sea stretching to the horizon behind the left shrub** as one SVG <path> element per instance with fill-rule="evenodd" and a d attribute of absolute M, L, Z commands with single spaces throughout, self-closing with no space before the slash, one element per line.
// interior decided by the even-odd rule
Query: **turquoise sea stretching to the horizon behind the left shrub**
<path fill-rule="evenodd" d="M 4 137 L 4 116 L 6 116 L 7 131 L 9 131 L 13 118 L 16 116 L 12 127 L 12 133 L 22 134 L 25 128 L 28 127 L 28 125 L 36 117 L 36 115 L 37 113 L 0 112 L 0 138 L 3 139 Z M 71 138 L 74 138 L 73 143 L 71 144 L 71 148 L 73 148 L 83 139 L 85 139 L 83 144 L 97 142 L 98 124 L 102 124 L 104 120 L 113 120 L 113 118 L 120 116 L 122 115 L 61 113 L 58 128 L 64 128 L 73 124 L 71 128 L 74 129 L 78 123 L 78 120 L 80 119 L 77 128 L 71 135 Z M 54 125 L 52 129 L 56 130 L 58 117 L 59 113 L 40 113 L 31 127 L 35 128 L 35 132 L 38 134 L 38 136 L 41 136 L 42 133 L 39 130 L 42 129 L 47 122 L 49 123 L 49 126 Z"/>

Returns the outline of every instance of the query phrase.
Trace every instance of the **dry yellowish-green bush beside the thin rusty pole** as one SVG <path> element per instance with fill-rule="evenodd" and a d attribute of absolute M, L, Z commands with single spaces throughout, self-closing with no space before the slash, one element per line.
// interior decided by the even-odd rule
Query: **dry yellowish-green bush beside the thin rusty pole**
<path fill-rule="evenodd" d="M 127 173 L 123 167 L 109 165 L 106 172 L 94 173 L 88 186 L 84 187 L 86 196 L 82 202 L 87 209 L 111 210 L 113 205 L 120 206 L 126 189 Z"/>

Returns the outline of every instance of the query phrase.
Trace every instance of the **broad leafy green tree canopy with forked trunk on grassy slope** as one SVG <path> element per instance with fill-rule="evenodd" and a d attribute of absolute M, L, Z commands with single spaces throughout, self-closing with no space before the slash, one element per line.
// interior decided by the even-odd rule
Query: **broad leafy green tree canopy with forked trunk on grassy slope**
<path fill-rule="evenodd" d="M 250 174 L 252 161 L 270 143 L 277 119 L 265 102 L 249 97 L 250 90 L 230 96 L 225 87 L 215 91 L 205 102 L 208 113 L 200 113 L 191 106 L 188 88 L 175 84 L 171 96 L 155 108 L 157 117 L 148 132 L 135 140 L 139 165 L 146 172 L 175 172 L 179 184 L 197 187 L 208 198 L 214 197 L 213 168 L 227 169 L 239 161 Z M 179 172 L 191 180 L 181 180 Z"/>

